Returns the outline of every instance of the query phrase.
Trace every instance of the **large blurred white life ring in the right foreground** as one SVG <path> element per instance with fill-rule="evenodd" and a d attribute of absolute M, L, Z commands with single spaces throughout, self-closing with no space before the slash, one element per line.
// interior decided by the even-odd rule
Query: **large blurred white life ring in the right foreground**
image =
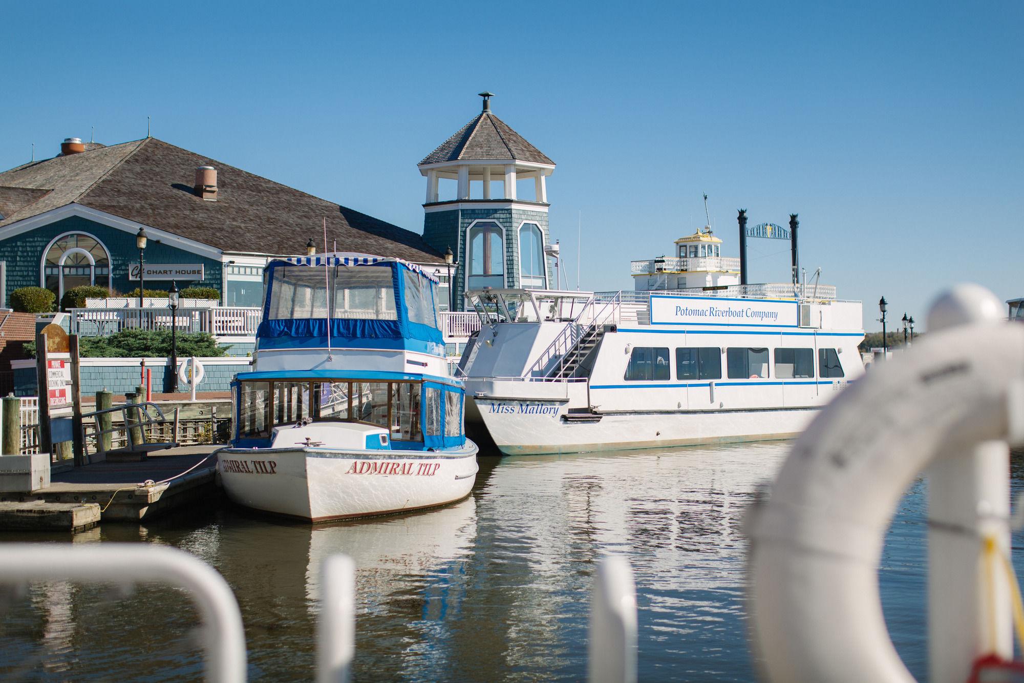
<path fill-rule="evenodd" d="M 794 443 L 749 526 L 752 629 L 770 680 L 913 680 L 882 614 L 886 529 L 932 460 L 1022 441 L 1022 388 L 1024 325 L 930 332 L 851 383 Z"/>

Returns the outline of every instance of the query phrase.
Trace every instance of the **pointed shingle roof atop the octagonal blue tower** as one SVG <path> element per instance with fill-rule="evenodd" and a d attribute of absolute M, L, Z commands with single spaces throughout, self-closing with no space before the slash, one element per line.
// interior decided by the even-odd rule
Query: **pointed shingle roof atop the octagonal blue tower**
<path fill-rule="evenodd" d="M 538 164 L 555 163 L 490 111 L 483 111 L 428 154 L 420 165 L 443 161 L 504 159 Z"/>

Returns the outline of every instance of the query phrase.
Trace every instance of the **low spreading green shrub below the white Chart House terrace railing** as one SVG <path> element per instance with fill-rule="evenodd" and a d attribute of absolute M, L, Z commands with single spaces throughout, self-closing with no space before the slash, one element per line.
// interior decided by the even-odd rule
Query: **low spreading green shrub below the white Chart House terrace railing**
<path fill-rule="evenodd" d="M 82 358 L 161 358 L 171 355 L 171 331 L 123 329 L 110 336 L 82 336 L 78 344 Z M 178 332 L 177 346 L 178 358 L 220 358 L 229 348 L 219 346 L 207 332 Z M 36 343 L 26 344 L 25 350 L 35 357 Z"/>

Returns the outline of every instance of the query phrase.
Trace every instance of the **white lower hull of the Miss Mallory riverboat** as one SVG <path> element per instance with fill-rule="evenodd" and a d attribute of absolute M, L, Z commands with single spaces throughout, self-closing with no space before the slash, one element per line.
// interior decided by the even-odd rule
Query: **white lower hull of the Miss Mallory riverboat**
<path fill-rule="evenodd" d="M 485 428 L 498 449 L 507 455 L 790 439 L 803 432 L 820 409 L 812 406 L 573 415 L 564 404 L 536 400 L 496 402 L 477 398 L 466 403 L 467 428 Z M 501 409 L 495 408 L 496 403 Z"/>

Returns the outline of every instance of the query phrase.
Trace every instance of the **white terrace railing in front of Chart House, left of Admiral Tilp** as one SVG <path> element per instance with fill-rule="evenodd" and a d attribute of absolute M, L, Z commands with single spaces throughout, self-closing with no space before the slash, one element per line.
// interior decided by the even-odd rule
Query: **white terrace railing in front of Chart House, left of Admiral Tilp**
<path fill-rule="evenodd" d="M 108 336 L 124 329 L 209 332 L 214 336 L 255 336 L 262 310 L 250 307 L 71 309 L 71 333 Z"/>

